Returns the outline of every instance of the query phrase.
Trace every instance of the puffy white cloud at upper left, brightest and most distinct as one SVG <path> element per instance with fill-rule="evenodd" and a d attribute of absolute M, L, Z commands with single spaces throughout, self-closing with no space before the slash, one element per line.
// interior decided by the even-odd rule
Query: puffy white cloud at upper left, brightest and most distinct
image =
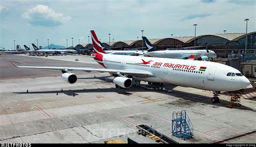
<path fill-rule="evenodd" d="M 23 13 L 22 17 L 32 25 L 41 26 L 62 25 L 71 19 L 69 16 L 53 11 L 47 5 L 37 5 Z"/>

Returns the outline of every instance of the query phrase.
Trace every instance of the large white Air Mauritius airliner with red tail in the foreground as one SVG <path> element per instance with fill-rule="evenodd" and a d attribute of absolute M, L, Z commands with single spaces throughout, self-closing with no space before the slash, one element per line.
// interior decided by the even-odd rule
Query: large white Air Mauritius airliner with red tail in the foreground
<path fill-rule="evenodd" d="M 116 87 L 130 88 L 139 86 L 140 81 L 172 83 L 174 85 L 193 87 L 213 91 L 212 102 L 218 102 L 218 92 L 245 88 L 250 81 L 237 69 L 209 61 L 166 59 L 139 56 L 105 54 L 95 31 L 91 31 L 94 58 L 104 68 L 87 67 L 50 67 L 50 66 L 16 66 L 19 68 L 44 68 L 62 71 L 62 78 L 68 83 L 75 83 L 77 76 L 71 71 L 108 72 Z"/>

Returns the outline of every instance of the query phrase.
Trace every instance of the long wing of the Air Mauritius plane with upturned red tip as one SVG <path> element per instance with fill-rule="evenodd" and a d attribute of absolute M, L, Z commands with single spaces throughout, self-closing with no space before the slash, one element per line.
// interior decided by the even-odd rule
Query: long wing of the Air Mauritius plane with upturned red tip
<path fill-rule="evenodd" d="M 11 61 L 10 61 L 11 62 Z M 139 70 L 139 69 L 109 69 L 109 68 L 89 68 L 89 67 L 55 67 L 55 66 L 17 66 L 13 62 L 12 65 L 18 68 L 37 68 L 37 69 L 58 69 L 60 71 L 85 71 L 85 72 L 108 72 L 117 74 L 127 74 L 131 76 L 137 76 L 140 78 L 156 77 L 149 71 Z"/>

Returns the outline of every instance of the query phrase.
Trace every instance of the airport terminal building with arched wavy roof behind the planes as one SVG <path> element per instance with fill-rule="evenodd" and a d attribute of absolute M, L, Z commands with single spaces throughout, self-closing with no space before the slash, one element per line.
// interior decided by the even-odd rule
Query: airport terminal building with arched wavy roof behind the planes
<path fill-rule="evenodd" d="M 218 57 L 227 58 L 229 53 L 241 52 L 245 50 L 246 33 L 225 33 L 225 34 L 204 34 L 195 37 L 171 37 L 163 39 L 149 39 L 156 46 L 157 50 L 193 50 L 194 40 L 196 49 L 213 50 Z M 142 40 L 116 41 L 103 43 L 105 47 L 112 50 L 129 50 L 138 48 L 142 50 Z M 75 46 L 78 51 L 92 48 L 92 44 L 78 44 Z M 247 51 L 255 54 L 256 31 L 247 33 Z"/>

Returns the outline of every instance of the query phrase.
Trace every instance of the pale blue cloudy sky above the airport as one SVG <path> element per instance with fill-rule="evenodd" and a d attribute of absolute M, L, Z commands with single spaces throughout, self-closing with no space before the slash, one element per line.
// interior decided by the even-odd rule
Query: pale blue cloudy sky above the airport
<path fill-rule="evenodd" d="M 255 0 L 0 0 L 0 47 L 88 43 L 256 31 Z M 91 38 L 90 38 L 91 43 Z"/>

